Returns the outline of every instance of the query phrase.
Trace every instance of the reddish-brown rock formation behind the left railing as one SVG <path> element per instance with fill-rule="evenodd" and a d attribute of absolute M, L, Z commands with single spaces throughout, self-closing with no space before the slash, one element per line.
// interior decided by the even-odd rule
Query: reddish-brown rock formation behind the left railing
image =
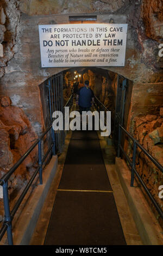
<path fill-rule="evenodd" d="M 22 109 L 11 106 L 8 96 L 2 97 L 0 102 L 0 177 L 2 178 L 34 143 L 36 135 Z M 10 196 L 12 192 L 20 190 L 32 175 L 37 161 L 36 156 L 37 149 L 34 149 L 11 175 L 8 184 Z M 3 204 L 0 202 L 0 205 L 1 215 Z"/>

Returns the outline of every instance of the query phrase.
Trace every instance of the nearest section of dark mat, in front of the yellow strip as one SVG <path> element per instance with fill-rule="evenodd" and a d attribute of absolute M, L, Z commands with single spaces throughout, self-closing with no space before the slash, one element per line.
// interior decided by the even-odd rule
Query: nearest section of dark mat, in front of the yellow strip
<path fill-rule="evenodd" d="M 45 245 L 126 245 L 113 194 L 58 191 Z"/>

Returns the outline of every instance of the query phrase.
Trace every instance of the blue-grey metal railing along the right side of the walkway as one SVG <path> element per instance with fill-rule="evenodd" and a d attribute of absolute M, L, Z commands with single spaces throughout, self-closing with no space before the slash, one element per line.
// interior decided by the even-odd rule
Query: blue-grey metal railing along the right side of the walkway
<path fill-rule="evenodd" d="M 103 110 L 103 111 L 109 111 L 101 101 L 99 101 L 97 99 L 97 97 L 95 97 L 95 106 L 97 107 L 98 111 Z M 128 155 L 126 154 L 126 152 L 124 151 L 122 145 L 121 145 L 121 138 L 122 138 L 122 131 L 124 131 L 126 133 L 126 135 L 133 141 L 134 145 L 133 145 L 133 157 L 132 157 L 132 161 L 129 159 Z M 133 137 L 130 135 L 130 133 L 124 129 L 124 127 L 122 127 L 121 124 L 119 124 L 118 127 L 118 151 L 117 151 L 117 157 L 120 157 L 120 152 L 122 151 L 123 155 L 126 157 L 129 166 L 131 167 L 131 180 L 130 180 L 130 186 L 133 187 L 134 186 L 134 177 L 135 175 L 137 176 L 137 179 L 139 180 L 140 184 L 142 185 L 142 187 L 144 188 L 145 192 L 147 193 L 147 196 L 149 197 L 149 199 L 151 199 L 151 202 L 153 203 L 153 205 L 155 206 L 156 211 L 158 211 L 160 217 L 163 219 L 163 211 L 161 210 L 160 206 L 158 205 L 158 203 L 156 202 L 156 200 L 154 199 L 153 195 L 151 194 L 151 192 L 148 190 L 145 182 L 141 179 L 139 173 L 137 173 L 137 170 L 135 168 L 135 163 L 136 163 L 136 149 L 137 147 L 139 147 L 142 152 L 155 164 L 155 166 L 163 173 L 163 167 L 161 166 L 161 164 L 156 161 L 154 159 L 154 157 L 148 153 L 148 151 L 142 147 L 142 145 Z"/>

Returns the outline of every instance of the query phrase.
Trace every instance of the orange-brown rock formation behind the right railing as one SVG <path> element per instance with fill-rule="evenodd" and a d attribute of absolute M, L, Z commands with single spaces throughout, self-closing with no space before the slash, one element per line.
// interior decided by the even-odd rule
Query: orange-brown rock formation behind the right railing
<path fill-rule="evenodd" d="M 146 115 L 136 117 L 134 121 L 134 137 L 163 166 L 163 117 L 161 115 Z M 137 148 L 136 169 L 162 208 L 162 200 L 158 197 L 158 187 L 162 185 L 163 174 L 139 148 Z M 149 203 L 152 206 L 150 200 Z M 153 210 L 156 214 L 154 208 Z M 156 217 L 159 217 L 158 214 Z"/>

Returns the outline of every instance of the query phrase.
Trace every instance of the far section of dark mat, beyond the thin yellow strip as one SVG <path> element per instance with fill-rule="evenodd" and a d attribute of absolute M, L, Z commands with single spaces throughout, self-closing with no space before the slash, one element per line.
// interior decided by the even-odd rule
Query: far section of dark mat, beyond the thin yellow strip
<path fill-rule="evenodd" d="M 95 139 L 84 138 L 84 134 Z M 74 135 L 83 139 L 70 141 L 59 188 L 111 190 L 96 131 L 74 131 Z"/>

